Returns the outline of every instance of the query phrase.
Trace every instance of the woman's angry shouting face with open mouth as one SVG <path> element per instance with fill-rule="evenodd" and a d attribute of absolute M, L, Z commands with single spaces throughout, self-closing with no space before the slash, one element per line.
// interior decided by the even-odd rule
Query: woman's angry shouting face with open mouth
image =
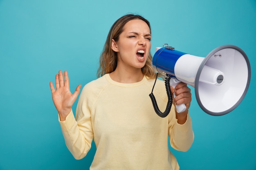
<path fill-rule="evenodd" d="M 143 20 L 130 20 L 124 25 L 119 40 L 112 40 L 117 52 L 117 67 L 134 69 L 144 67 L 151 48 L 150 29 Z"/>

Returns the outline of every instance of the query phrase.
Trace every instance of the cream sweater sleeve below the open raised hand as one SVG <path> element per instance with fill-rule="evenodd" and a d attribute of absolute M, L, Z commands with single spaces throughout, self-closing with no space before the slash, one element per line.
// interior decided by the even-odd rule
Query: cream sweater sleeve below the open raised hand
<path fill-rule="evenodd" d="M 75 159 L 87 155 L 93 140 L 91 114 L 83 91 L 76 107 L 76 118 L 71 111 L 65 121 L 59 121 L 67 148 Z"/>

